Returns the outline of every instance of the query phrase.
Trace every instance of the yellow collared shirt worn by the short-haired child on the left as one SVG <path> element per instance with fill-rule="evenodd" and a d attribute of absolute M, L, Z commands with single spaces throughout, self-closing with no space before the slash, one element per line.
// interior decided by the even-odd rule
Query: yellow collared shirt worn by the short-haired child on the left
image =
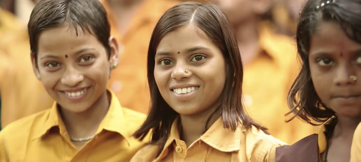
<path fill-rule="evenodd" d="M 92 140 L 71 143 L 57 104 L 10 123 L 0 132 L 1 162 L 127 162 L 143 146 L 131 134 L 145 115 L 121 107 L 111 93 L 109 110 Z"/>

